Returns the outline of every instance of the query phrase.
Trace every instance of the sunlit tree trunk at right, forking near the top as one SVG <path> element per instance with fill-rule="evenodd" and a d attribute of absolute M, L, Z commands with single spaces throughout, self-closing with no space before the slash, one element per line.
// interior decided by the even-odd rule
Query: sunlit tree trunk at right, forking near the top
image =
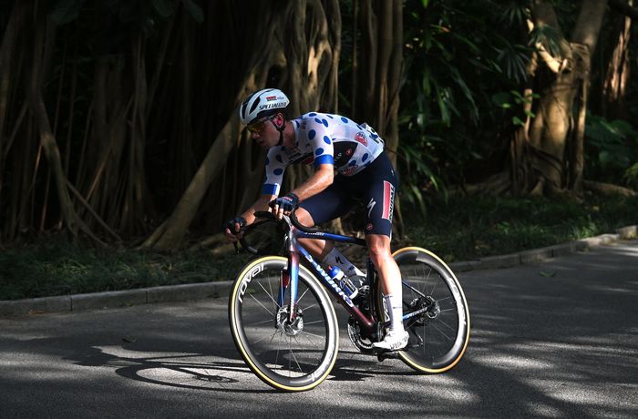
<path fill-rule="evenodd" d="M 592 51 L 602 26 L 606 1 L 582 2 L 572 42 L 561 43 L 561 56 L 551 56 L 539 47 L 540 63 L 534 68 L 536 86 L 540 87 L 540 99 L 536 102 L 536 117 L 531 120 L 525 147 L 520 148 L 518 158 L 529 167 L 524 170 L 528 179 L 517 179 L 518 188 L 527 192 L 549 194 L 557 190 L 581 189 L 582 141 L 584 137 L 584 112 L 587 107 L 587 90 L 591 71 Z M 558 28 L 553 7 L 543 0 L 533 2 L 534 26 Z M 579 92 L 581 95 L 579 96 Z M 576 107 L 576 99 L 580 98 Z M 574 110 L 578 118 L 573 120 Z M 515 163 L 518 164 L 518 163 Z M 520 187 L 520 183 L 526 185 Z"/>

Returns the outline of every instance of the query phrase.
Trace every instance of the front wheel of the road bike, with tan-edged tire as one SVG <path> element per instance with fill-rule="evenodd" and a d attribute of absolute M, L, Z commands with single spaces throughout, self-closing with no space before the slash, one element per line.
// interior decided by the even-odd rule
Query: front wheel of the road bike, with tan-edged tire
<path fill-rule="evenodd" d="M 310 390 L 328 376 L 338 352 L 334 307 L 321 283 L 299 267 L 297 313 L 289 312 L 290 287 L 277 304 L 288 260 L 267 256 L 248 263 L 232 285 L 229 321 L 232 339 L 245 363 L 262 382 L 286 392 Z"/>

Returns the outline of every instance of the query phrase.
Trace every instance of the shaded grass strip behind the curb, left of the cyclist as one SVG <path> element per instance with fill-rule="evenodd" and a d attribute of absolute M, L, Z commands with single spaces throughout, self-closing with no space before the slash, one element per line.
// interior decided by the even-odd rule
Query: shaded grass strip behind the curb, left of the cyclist
<path fill-rule="evenodd" d="M 54 239 L 0 252 L 0 300 L 226 281 L 244 262 L 203 250 L 98 250 Z"/>

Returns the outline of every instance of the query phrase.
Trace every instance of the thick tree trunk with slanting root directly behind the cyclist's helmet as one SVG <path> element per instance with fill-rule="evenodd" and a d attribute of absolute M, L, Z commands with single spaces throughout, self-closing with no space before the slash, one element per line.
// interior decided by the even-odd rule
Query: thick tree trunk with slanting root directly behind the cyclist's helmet
<path fill-rule="evenodd" d="M 292 115 L 335 107 L 341 28 L 338 3 L 336 0 L 306 0 L 289 2 L 283 9 L 268 6 L 265 4 L 259 10 L 253 10 L 260 15 L 262 26 L 252 27 L 255 44 L 247 49 L 253 52 L 249 59 L 251 65 L 243 77 L 235 103 L 239 104 L 252 91 L 268 86 L 283 88 L 288 94 Z M 233 110 L 232 117 L 215 138 L 170 218 L 151 234 L 143 247 L 170 250 L 180 245 L 206 192 L 214 180 L 223 175 L 222 169 L 228 164 L 229 155 L 239 149 L 240 141 L 246 139 L 237 112 Z M 256 164 L 262 173 L 263 161 Z M 301 180 L 304 175 L 298 168 L 290 168 L 286 173 L 286 185 L 290 184 L 290 178 Z M 218 192 L 213 190 L 211 193 Z M 234 204 L 257 198 L 247 199 L 245 194 L 241 195 L 232 199 Z M 236 212 L 240 210 L 235 209 Z"/>

